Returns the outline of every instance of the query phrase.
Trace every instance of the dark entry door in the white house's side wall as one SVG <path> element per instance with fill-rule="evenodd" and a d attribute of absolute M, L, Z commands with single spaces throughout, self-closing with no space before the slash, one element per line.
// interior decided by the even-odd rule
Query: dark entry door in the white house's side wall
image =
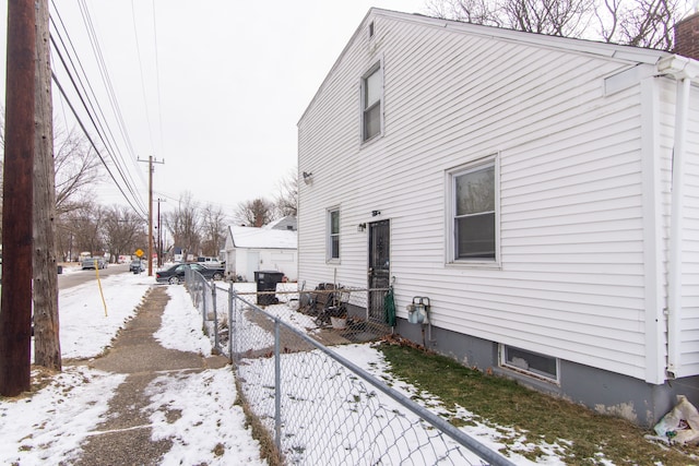
<path fill-rule="evenodd" d="M 369 289 L 388 288 L 390 284 L 390 223 L 369 224 Z M 383 296 L 386 291 L 369 291 L 369 319 L 383 321 Z"/>

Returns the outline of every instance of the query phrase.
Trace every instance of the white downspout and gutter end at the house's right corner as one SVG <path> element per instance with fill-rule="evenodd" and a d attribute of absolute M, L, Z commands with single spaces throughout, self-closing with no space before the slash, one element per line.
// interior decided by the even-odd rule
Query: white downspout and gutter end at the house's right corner
<path fill-rule="evenodd" d="M 682 374 L 682 247 L 687 126 L 691 83 L 697 81 L 699 62 L 680 56 L 668 56 L 657 63 L 659 71 L 677 82 L 675 100 L 675 135 L 671 198 L 670 243 L 667 254 L 667 380 Z"/>

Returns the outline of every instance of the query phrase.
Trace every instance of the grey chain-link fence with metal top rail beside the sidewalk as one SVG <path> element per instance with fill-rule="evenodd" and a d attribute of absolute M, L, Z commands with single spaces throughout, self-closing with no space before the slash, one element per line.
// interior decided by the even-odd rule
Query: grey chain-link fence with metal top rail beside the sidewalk
<path fill-rule="evenodd" d="M 186 278 L 204 331 L 285 464 L 512 464 L 233 284 Z"/>

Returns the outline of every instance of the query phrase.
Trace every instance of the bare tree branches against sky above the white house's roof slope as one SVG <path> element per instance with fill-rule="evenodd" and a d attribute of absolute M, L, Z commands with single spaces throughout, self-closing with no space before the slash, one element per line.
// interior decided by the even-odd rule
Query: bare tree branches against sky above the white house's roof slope
<path fill-rule="evenodd" d="M 673 49 L 680 7 L 680 0 L 604 0 L 599 5 L 594 0 L 428 0 L 426 4 L 437 17 L 661 50 Z"/>

